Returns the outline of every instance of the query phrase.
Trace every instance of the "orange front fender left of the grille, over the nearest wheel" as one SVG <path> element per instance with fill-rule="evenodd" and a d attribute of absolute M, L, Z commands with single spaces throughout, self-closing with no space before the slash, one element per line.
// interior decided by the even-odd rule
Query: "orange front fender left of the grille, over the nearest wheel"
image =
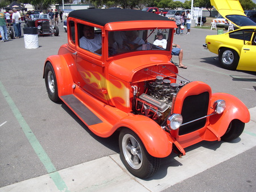
<path fill-rule="evenodd" d="M 174 141 L 154 120 L 143 115 L 127 116 L 114 125 L 114 130 L 120 127 L 133 130 L 151 156 L 163 158 L 171 154 Z"/>

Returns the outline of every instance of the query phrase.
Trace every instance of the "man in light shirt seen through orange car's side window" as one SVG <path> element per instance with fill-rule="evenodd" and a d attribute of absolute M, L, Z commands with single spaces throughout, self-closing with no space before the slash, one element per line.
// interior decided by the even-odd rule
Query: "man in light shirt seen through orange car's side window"
<path fill-rule="evenodd" d="M 80 38 L 80 47 L 101 55 L 101 35 L 94 34 L 94 27 L 85 25 L 82 28 L 82 34 L 84 34 L 84 36 Z"/>

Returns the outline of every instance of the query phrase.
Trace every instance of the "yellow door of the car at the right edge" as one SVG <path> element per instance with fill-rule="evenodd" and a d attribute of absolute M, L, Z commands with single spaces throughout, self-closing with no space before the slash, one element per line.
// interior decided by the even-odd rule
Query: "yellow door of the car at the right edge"
<path fill-rule="evenodd" d="M 238 70 L 256 71 L 256 33 L 253 33 L 253 38 L 250 44 L 243 45 L 241 49 L 240 60 L 237 66 Z"/>

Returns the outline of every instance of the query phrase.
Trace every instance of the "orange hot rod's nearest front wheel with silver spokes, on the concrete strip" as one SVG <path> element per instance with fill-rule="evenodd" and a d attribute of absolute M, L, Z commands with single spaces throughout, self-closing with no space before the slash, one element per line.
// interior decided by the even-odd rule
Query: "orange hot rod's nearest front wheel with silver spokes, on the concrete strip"
<path fill-rule="evenodd" d="M 123 164 L 134 176 L 147 178 L 158 170 L 160 158 L 149 155 L 141 139 L 130 129 L 120 132 L 119 148 Z"/>

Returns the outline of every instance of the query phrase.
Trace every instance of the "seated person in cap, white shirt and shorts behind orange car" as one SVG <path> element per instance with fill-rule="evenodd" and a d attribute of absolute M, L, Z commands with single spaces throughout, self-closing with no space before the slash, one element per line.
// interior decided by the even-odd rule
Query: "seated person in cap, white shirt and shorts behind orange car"
<path fill-rule="evenodd" d="M 166 49 L 167 45 L 167 40 L 163 39 L 163 34 L 162 32 L 158 32 L 156 35 L 156 40 L 153 43 L 154 45 Z M 177 44 L 172 44 L 175 48 L 172 48 L 172 55 L 179 56 L 179 68 L 187 69 L 187 66 L 184 66 L 182 64 L 182 59 L 183 59 L 183 49 L 180 48 L 180 45 Z"/>

